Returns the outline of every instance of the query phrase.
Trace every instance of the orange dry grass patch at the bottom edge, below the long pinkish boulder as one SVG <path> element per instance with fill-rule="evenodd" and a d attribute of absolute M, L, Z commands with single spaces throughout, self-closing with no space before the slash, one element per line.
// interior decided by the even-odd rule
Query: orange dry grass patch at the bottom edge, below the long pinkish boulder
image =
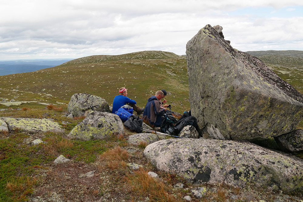
<path fill-rule="evenodd" d="M 176 202 L 169 192 L 169 188 L 162 181 L 158 181 L 147 174 L 148 171 L 140 168 L 134 175 L 127 178 L 132 192 L 142 197 L 149 197 L 150 201 Z"/>

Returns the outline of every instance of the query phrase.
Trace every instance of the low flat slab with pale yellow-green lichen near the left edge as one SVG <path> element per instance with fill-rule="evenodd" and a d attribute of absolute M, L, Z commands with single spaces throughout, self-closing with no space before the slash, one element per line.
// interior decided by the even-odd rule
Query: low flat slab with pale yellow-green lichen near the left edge
<path fill-rule="evenodd" d="M 22 130 L 28 133 L 39 133 L 39 132 L 59 132 L 63 133 L 64 130 L 61 126 L 50 120 L 50 119 L 34 119 L 34 118 L 1 118 L 8 126 L 9 131 Z"/>

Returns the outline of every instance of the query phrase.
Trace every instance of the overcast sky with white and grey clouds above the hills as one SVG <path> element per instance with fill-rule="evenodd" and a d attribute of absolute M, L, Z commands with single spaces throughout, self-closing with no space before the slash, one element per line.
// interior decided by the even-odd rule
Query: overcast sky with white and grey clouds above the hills
<path fill-rule="evenodd" d="M 221 25 L 241 51 L 303 50 L 299 0 L 7 0 L 0 5 L 0 60 L 184 55 L 207 24 Z"/>

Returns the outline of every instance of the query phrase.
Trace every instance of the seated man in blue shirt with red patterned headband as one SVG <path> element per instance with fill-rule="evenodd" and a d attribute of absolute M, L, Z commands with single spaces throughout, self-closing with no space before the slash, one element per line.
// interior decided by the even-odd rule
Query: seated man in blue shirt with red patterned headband
<path fill-rule="evenodd" d="M 136 106 L 136 101 L 133 99 L 129 99 L 127 97 L 127 89 L 125 87 L 119 89 L 120 95 L 115 96 L 113 101 L 113 110 L 112 113 L 115 113 L 118 111 L 120 107 L 123 105 L 128 104 L 129 106 L 133 107 L 133 110 L 137 112 L 137 115 L 140 115 L 143 113 L 143 109 L 140 109 L 140 107 Z"/>

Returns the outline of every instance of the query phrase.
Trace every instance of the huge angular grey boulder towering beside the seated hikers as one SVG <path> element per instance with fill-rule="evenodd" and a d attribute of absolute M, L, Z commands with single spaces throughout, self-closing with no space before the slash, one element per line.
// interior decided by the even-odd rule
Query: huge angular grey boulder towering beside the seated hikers
<path fill-rule="evenodd" d="M 186 56 L 191 113 L 203 137 L 274 137 L 302 120 L 303 95 L 210 25 L 187 42 Z"/>

